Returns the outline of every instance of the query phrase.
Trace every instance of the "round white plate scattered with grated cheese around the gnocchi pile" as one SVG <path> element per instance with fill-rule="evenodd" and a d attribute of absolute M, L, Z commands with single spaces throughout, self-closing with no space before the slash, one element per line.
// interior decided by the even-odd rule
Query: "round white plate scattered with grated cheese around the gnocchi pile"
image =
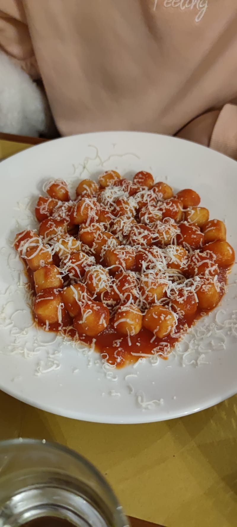
<path fill-rule="evenodd" d="M 112 168 L 126 177 L 148 170 L 175 189 L 193 188 L 211 218 L 226 219 L 237 251 L 237 164 L 194 143 L 155 134 L 95 133 L 44 143 L 2 162 L 0 388 L 48 412 L 86 421 L 143 423 L 197 412 L 237 392 L 236 265 L 222 306 L 195 326 L 196 343 L 184 343 L 156 366 L 146 360 L 108 372 L 98 354 L 84 355 L 60 339 L 52 343 L 53 334 L 30 327 L 22 266 L 7 240 L 34 225 L 27 208 L 34 209 L 44 180 L 63 178 L 75 188 L 80 178 Z M 209 335 L 204 326 L 211 327 Z M 51 370 L 40 373 L 45 369 Z"/>

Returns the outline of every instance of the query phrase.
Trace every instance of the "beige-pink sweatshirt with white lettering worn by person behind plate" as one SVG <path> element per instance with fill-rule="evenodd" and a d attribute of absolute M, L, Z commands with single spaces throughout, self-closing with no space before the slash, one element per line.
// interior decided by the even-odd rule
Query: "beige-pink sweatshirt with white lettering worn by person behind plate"
<path fill-rule="evenodd" d="M 0 45 L 62 135 L 185 127 L 237 159 L 236 27 L 236 0 L 0 0 Z"/>

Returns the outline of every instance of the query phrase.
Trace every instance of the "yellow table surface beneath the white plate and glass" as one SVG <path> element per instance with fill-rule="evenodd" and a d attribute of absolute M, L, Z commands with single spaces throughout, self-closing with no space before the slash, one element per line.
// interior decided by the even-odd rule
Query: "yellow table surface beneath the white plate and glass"
<path fill-rule="evenodd" d="M 0 159 L 29 146 L 27 138 L 3 137 Z M 236 525 L 237 396 L 173 421 L 102 425 L 58 417 L 0 392 L 0 423 L 0 440 L 35 437 L 83 454 L 127 514 L 168 527 Z"/>

